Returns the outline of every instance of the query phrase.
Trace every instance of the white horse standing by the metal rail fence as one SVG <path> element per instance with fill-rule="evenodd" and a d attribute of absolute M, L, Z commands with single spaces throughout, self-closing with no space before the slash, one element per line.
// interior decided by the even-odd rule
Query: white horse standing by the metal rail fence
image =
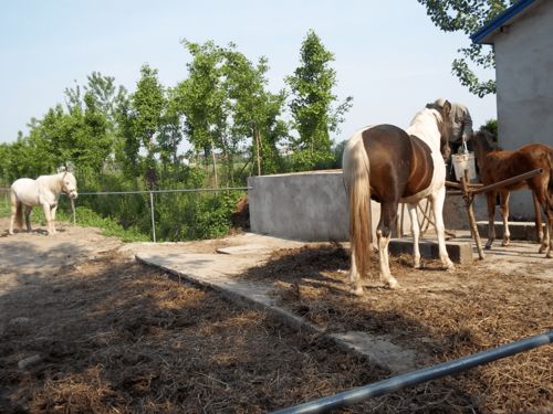
<path fill-rule="evenodd" d="M 48 234 L 55 234 L 55 211 L 60 193 L 64 192 L 71 200 L 77 198 L 75 177 L 67 171 L 52 176 L 40 176 L 36 180 L 20 178 L 11 184 L 11 220 L 9 233 L 13 234 L 13 223 L 23 225 L 23 205 L 25 205 L 27 231 L 31 231 L 31 210 L 33 205 L 42 205 L 46 219 Z"/>

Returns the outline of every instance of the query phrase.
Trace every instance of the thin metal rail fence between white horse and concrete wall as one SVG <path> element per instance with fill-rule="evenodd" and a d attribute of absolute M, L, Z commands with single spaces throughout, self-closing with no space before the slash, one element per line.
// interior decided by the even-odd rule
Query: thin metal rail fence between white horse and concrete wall
<path fill-rule="evenodd" d="M 150 215 L 150 226 L 152 226 L 152 241 L 157 243 L 156 235 L 156 198 L 155 194 L 176 194 L 176 193 L 202 193 L 202 192 L 228 192 L 228 191 L 248 191 L 251 187 L 222 187 L 222 188 L 199 188 L 199 189 L 171 189 L 171 190 L 135 190 L 135 191 L 94 191 L 94 192 L 80 192 L 79 197 L 100 197 L 100 195 L 131 195 L 131 194 L 142 194 L 148 195 L 149 199 L 149 215 Z M 3 193 L 4 209 L 8 212 L 10 210 L 9 201 L 9 188 L 0 188 L 0 193 Z M 73 222 L 77 222 L 75 211 L 73 213 Z"/>

